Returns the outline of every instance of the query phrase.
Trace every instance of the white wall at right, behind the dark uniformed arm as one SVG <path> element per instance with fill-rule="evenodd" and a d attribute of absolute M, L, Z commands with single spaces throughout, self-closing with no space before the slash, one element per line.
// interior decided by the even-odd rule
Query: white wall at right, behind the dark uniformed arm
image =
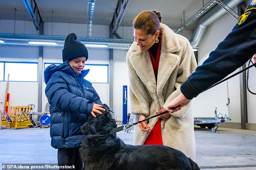
<path fill-rule="evenodd" d="M 235 10 L 235 9 L 233 9 Z M 207 27 L 204 38 L 201 40 L 198 48 L 199 65 L 203 63 L 237 23 L 237 20 L 230 14 L 225 14 L 212 25 Z M 242 57 L 242 56 L 241 56 Z M 248 65 L 247 65 L 248 66 Z M 241 68 L 240 68 L 241 69 Z M 239 71 L 237 69 L 235 72 Z M 234 74 L 233 72 L 232 74 Z M 255 68 L 250 69 L 249 86 L 250 90 L 256 92 Z M 230 74 L 231 75 L 231 74 Z M 229 76 L 230 76 L 229 75 Z M 248 95 L 248 123 L 256 123 L 256 96 L 247 92 Z M 230 104 L 226 105 L 227 98 L 230 98 Z M 217 107 L 218 113 L 227 114 L 232 121 L 241 122 L 240 111 L 240 80 L 239 75 L 229 79 L 218 86 L 199 94 L 193 99 L 194 117 L 214 117 L 214 109 Z"/>

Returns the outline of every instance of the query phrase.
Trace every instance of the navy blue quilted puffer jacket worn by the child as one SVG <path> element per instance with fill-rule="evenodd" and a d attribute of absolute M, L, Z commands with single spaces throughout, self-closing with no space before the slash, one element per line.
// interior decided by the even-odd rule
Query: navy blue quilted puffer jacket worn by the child
<path fill-rule="evenodd" d="M 44 70 L 45 94 L 50 104 L 52 147 L 79 147 L 83 138 L 80 126 L 92 112 L 94 103 L 102 104 L 92 84 L 84 79 L 89 70 L 76 74 L 68 61 Z M 107 107 L 108 108 L 108 107 Z"/>

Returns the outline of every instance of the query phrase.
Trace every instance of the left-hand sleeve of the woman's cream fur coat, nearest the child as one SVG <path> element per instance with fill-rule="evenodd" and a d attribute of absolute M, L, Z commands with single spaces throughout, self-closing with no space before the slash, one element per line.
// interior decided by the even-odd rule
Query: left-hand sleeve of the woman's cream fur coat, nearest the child
<path fill-rule="evenodd" d="M 130 80 L 129 96 L 130 96 L 130 109 L 132 114 L 149 115 L 149 94 L 147 94 L 143 83 L 136 74 L 132 64 L 129 60 L 130 50 L 126 55 L 126 63 L 128 66 L 128 74 Z"/>

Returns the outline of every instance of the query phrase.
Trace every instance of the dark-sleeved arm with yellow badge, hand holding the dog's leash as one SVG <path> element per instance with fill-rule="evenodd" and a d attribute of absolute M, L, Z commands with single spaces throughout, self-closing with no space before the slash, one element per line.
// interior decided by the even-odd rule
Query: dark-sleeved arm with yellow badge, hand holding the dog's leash
<path fill-rule="evenodd" d="M 181 94 L 167 106 L 180 110 L 204 90 L 246 63 L 256 53 L 256 0 L 251 0 L 231 33 L 218 44 L 201 66 L 180 86 Z M 254 55 L 256 62 L 256 55 Z M 175 109 L 171 109 L 175 107 Z"/>

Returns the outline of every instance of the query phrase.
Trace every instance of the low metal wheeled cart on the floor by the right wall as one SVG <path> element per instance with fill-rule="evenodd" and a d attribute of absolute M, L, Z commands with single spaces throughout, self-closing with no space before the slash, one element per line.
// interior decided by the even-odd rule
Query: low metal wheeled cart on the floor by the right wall
<path fill-rule="evenodd" d="M 221 117 L 219 117 L 221 115 Z M 200 126 L 201 128 L 208 127 L 212 132 L 216 132 L 219 123 L 223 123 L 227 120 L 231 120 L 225 114 L 224 117 L 222 113 L 217 113 L 217 108 L 215 109 L 215 117 L 194 117 L 194 125 Z"/>

